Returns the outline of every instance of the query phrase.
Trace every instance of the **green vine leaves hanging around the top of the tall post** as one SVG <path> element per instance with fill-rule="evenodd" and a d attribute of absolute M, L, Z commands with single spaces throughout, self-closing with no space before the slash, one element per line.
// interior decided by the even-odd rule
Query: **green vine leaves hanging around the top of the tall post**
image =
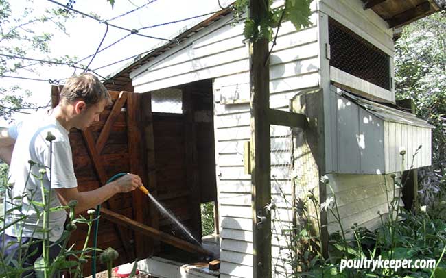
<path fill-rule="evenodd" d="M 270 7 L 272 1 L 263 0 Z M 243 34 L 247 40 L 257 41 L 266 39 L 272 41 L 273 28 L 278 28 L 282 21 L 291 21 L 296 29 L 307 27 L 312 23 L 309 21 L 311 10 L 309 4 L 312 0 L 285 0 L 285 5 L 276 9 L 268 9 L 266 16 L 261 18 L 247 17 Z M 240 18 L 249 7 L 249 0 L 235 1 L 235 17 Z"/>

